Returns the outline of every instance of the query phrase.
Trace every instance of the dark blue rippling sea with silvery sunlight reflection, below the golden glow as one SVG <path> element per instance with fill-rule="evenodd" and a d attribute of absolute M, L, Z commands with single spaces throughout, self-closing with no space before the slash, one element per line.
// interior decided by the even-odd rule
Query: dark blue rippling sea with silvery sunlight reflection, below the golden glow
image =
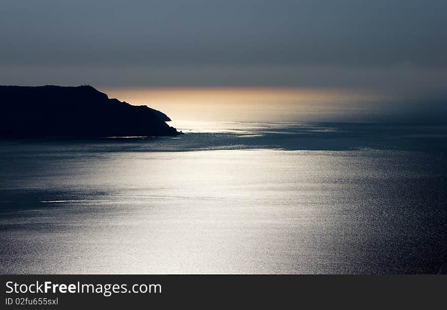
<path fill-rule="evenodd" d="M 183 131 L 0 142 L 0 272 L 447 272 L 446 127 Z"/>

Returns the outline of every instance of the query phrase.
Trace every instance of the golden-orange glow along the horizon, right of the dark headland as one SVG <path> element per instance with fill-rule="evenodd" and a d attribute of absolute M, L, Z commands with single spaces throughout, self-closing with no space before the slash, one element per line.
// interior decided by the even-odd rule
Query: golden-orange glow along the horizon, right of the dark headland
<path fill-rule="evenodd" d="M 100 88 L 109 98 L 147 105 L 173 120 L 319 121 L 350 114 L 376 94 L 321 88 Z"/>

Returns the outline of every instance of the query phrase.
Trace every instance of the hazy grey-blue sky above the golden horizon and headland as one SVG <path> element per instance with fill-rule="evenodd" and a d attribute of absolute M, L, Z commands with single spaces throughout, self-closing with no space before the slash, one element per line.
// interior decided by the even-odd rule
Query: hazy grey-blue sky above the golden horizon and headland
<path fill-rule="evenodd" d="M 0 84 L 447 89 L 445 0 L 2 0 Z"/>

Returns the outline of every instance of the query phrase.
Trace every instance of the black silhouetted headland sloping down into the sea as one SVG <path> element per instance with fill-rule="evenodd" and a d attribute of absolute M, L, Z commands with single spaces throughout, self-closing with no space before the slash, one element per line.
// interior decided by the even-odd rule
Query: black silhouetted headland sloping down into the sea
<path fill-rule="evenodd" d="M 0 86 L 0 137 L 174 136 L 164 113 L 91 86 Z"/>

